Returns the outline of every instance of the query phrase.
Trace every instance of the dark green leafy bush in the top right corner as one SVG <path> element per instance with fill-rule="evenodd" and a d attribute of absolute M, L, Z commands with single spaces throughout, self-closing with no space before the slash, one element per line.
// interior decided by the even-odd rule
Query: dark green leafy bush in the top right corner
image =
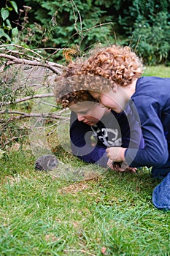
<path fill-rule="evenodd" d="M 170 7 L 168 2 L 169 0 L 135 0 L 129 6 L 129 15 L 119 20 L 128 36 L 128 40 L 124 41 L 125 44 L 129 45 L 129 39 L 131 39 L 131 47 L 147 65 L 169 62 Z"/>

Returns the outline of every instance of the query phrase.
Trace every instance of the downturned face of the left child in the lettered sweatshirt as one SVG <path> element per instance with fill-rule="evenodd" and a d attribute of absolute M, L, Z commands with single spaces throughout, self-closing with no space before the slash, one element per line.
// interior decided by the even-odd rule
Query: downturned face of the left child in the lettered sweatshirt
<path fill-rule="evenodd" d="M 109 110 L 96 102 L 79 102 L 69 105 L 69 109 L 77 114 L 79 121 L 90 126 L 95 125 Z"/>

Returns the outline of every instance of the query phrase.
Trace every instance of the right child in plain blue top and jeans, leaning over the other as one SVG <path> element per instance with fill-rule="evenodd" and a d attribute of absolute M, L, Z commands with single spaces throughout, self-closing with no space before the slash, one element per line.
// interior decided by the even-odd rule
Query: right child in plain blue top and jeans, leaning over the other
<path fill-rule="evenodd" d="M 87 89 L 115 112 L 126 105 L 136 107 L 144 148 L 136 155 L 134 148 L 107 148 L 107 155 L 113 161 L 125 160 L 131 167 L 152 166 L 152 176 L 163 178 L 152 201 L 157 208 L 170 209 L 170 78 L 141 77 L 139 58 L 130 48 L 117 45 L 96 50 L 81 64 L 71 64 L 69 70 L 72 79 L 84 79 L 80 84 L 76 80 L 75 88 Z"/>

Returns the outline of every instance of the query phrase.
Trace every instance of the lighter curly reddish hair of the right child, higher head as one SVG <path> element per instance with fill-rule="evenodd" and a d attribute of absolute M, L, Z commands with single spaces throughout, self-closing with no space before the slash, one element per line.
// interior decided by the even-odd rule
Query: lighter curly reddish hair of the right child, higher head
<path fill-rule="evenodd" d="M 78 60 L 68 67 L 74 75 L 98 75 L 120 86 L 128 86 L 143 72 L 142 61 L 136 53 L 120 45 L 93 50 L 88 59 L 82 63 Z"/>

